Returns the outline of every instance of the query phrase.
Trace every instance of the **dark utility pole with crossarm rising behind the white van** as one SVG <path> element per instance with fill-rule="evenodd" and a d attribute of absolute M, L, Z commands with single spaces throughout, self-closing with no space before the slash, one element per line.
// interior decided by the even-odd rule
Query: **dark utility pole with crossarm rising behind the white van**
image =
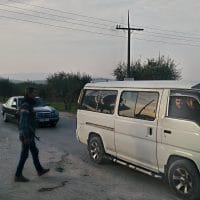
<path fill-rule="evenodd" d="M 130 54 L 131 54 L 131 33 L 132 33 L 131 31 L 143 31 L 144 29 L 130 27 L 129 11 L 128 11 L 128 28 L 121 27 L 119 24 L 117 24 L 116 29 L 128 31 L 127 78 L 130 78 L 130 67 L 131 67 Z"/>

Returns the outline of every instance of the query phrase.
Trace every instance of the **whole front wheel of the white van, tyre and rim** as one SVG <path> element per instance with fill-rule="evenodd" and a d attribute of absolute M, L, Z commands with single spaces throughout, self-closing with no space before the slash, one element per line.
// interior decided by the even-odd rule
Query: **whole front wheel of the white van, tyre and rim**
<path fill-rule="evenodd" d="M 168 170 L 168 181 L 171 189 L 181 198 L 200 199 L 200 175 L 191 161 L 174 161 Z"/>

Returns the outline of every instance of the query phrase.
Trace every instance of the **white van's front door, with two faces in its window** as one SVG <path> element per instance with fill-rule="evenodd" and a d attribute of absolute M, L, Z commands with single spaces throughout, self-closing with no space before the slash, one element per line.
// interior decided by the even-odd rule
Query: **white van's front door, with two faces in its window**
<path fill-rule="evenodd" d="M 162 119 L 162 149 L 158 154 L 161 165 L 168 154 L 188 157 L 192 151 L 200 152 L 200 92 L 192 90 L 171 90 L 168 112 Z M 167 150 L 168 149 L 168 150 Z M 170 149 L 170 151 L 169 151 Z M 168 151 L 168 154 L 166 152 Z M 169 153 L 170 152 L 170 153 Z M 166 158 L 165 158 L 166 157 Z"/>

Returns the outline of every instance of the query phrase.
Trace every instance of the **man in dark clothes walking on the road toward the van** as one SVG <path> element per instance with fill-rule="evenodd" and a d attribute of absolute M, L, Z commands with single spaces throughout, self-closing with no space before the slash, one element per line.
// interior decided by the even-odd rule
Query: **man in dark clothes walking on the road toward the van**
<path fill-rule="evenodd" d="M 29 179 L 22 175 L 24 164 L 28 158 L 29 150 L 33 157 L 33 163 L 39 176 L 47 173 L 49 169 L 44 169 L 39 161 L 39 150 L 35 144 L 35 115 L 33 107 L 35 104 L 36 90 L 28 87 L 25 90 L 24 101 L 20 107 L 19 138 L 22 143 L 20 160 L 15 173 L 15 182 L 28 182 Z"/>

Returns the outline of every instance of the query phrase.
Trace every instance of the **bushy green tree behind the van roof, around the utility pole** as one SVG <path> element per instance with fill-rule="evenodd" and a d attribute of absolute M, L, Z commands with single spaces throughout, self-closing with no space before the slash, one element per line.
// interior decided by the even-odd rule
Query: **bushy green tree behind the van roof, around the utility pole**
<path fill-rule="evenodd" d="M 124 80 L 127 74 L 125 63 L 119 63 L 114 69 L 113 75 L 117 80 Z M 141 60 L 131 64 L 130 76 L 135 80 L 179 80 L 181 72 L 177 69 L 174 60 L 164 56 L 158 59 L 147 59 L 147 62 L 141 63 Z"/>

